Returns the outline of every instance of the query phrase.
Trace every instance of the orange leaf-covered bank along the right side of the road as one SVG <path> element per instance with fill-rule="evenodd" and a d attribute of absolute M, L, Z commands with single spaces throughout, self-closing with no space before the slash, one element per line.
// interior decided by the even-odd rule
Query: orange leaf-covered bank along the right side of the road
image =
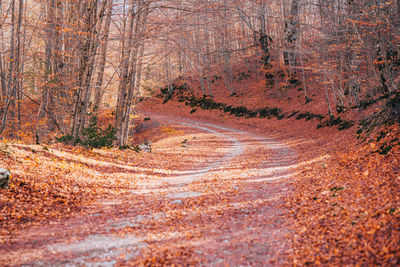
<path fill-rule="evenodd" d="M 400 263 L 398 126 L 382 128 L 361 142 L 356 129 L 317 129 L 313 121 L 232 118 L 204 110 L 190 114 L 173 101 L 155 108 L 268 133 L 295 149 L 299 164 L 289 182 L 294 190 L 284 204 L 293 231 L 287 264 Z"/>

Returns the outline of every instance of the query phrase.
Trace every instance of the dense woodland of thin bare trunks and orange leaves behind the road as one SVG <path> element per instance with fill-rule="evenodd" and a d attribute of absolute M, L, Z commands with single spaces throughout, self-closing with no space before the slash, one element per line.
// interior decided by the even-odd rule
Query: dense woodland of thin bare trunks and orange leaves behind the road
<path fill-rule="evenodd" d="M 369 126 L 399 120 L 400 1 L 0 1 L 0 134 L 77 140 L 112 109 L 129 143 L 143 96 L 236 95 L 238 81 L 324 96 L 333 119 L 386 101 Z M 89 126 L 88 126 L 89 125 Z"/>

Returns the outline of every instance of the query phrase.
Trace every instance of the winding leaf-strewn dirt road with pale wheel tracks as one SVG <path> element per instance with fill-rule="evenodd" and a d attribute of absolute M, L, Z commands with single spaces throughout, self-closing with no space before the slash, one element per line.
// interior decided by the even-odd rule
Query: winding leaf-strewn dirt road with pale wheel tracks
<path fill-rule="evenodd" d="M 276 140 L 240 130 L 151 116 L 185 129 L 179 136 L 154 144 L 154 153 L 180 149 L 190 152 L 185 157 L 196 158 L 202 151 L 201 160 L 190 169 L 138 179 L 134 188 L 98 201 L 84 216 L 24 231 L 10 251 L 0 256 L 0 263 L 282 263 L 279 255 L 285 254 L 288 244 L 280 205 L 281 197 L 290 190 L 285 178 L 295 167 L 294 152 Z M 129 174 L 129 168 L 126 171 Z"/>

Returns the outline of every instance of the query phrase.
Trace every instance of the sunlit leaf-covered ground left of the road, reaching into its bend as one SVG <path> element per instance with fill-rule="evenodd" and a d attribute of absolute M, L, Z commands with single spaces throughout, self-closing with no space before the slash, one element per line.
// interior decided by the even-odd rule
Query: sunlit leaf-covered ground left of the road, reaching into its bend
<path fill-rule="evenodd" d="M 184 140 L 177 136 L 182 135 L 183 129 L 167 125 L 157 129 L 166 137 L 156 145 L 159 153 L 87 150 L 61 144 L 0 144 L 1 167 L 12 173 L 9 189 L 0 195 L 0 242 L 12 240 L 18 228 L 79 212 L 96 198 L 129 188 L 140 179 L 207 164 L 219 155 L 210 155 L 201 146 L 204 139 L 189 136 L 191 129 L 186 129 L 185 134 L 194 138 L 191 143 L 197 145 L 196 157 L 181 147 Z M 212 138 L 218 142 L 217 137 Z M 166 149 L 168 153 L 163 152 Z M 135 175 L 136 179 L 126 179 L 128 175 Z"/>

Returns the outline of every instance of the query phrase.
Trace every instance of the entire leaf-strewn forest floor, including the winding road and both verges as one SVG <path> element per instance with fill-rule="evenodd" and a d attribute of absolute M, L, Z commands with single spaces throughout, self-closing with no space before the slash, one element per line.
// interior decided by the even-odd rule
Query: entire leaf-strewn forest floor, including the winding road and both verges
<path fill-rule="evenodd" d="M 397 127 L 139 111 L 151 153 L 2 144 L 2 266 L 400 263 Z"/>

